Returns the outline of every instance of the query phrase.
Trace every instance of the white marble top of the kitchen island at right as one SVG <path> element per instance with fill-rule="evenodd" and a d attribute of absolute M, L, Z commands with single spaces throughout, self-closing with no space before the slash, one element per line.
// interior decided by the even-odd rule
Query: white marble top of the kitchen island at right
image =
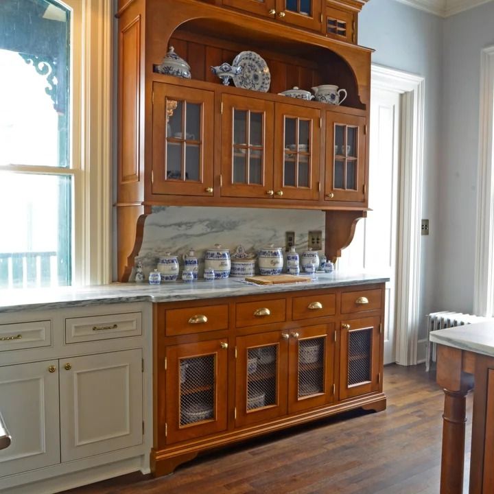
<path fill-rule="evenodd" d="M 429 338 L 433 343 L 494 357 L 494 322 L 492 321 L 438 329 L 432 331 Z"/>

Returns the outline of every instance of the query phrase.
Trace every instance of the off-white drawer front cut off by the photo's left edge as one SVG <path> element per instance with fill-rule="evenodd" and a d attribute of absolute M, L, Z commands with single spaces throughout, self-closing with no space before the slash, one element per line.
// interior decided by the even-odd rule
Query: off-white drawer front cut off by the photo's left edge
<path fill-rule="evenodd" d="M 25 350 L 51 345 L 51 321 L 0 325 L 0 351 Z"/>

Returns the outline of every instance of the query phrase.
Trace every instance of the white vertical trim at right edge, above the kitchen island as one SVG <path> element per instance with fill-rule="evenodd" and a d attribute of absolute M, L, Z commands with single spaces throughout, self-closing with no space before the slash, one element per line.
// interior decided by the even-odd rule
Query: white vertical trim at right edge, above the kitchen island
<path fill-rule="evenodd" d="M 494 47 L 480 62 L 480 124 L 475 237 L 474 314 L 494 314 Z"/>

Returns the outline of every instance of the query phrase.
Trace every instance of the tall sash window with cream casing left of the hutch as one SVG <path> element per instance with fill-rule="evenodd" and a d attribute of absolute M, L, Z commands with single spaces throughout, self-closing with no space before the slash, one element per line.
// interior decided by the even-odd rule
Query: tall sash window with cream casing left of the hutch
<path fill-rule="evenodd" d="M 110 3 L 0 3 L 0 288 L 109 281 Z"/>

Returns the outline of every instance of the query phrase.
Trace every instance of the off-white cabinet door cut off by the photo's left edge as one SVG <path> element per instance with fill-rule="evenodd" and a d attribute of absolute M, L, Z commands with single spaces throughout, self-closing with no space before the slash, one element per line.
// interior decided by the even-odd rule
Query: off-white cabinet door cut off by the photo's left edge
<path fill-rule="evenodd" d="M 0 367 L 0 410 L 12 436 L 0 476 L 60 463 L 58 360 Z"/>

